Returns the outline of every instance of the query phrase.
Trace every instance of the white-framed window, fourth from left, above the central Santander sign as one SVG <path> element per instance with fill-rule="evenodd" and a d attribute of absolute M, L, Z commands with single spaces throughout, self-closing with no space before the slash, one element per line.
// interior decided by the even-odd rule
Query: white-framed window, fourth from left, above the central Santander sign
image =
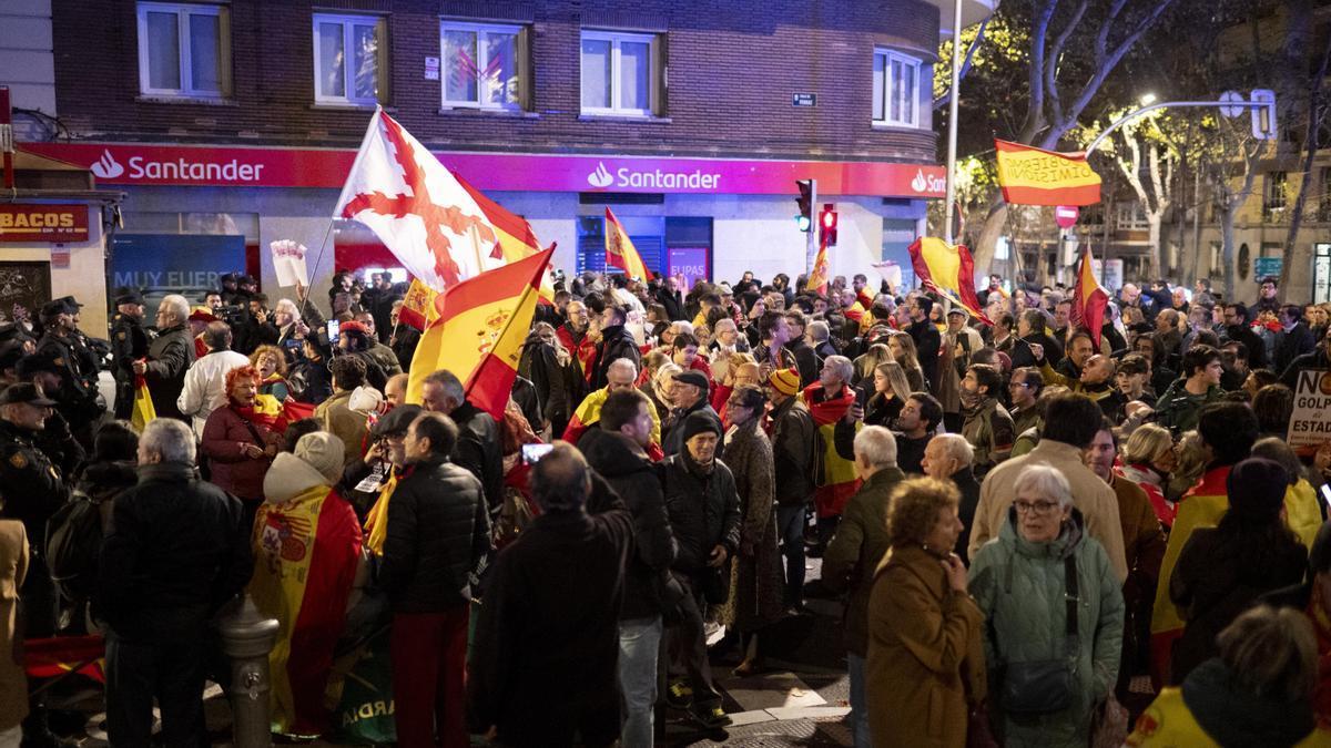
<path fill-rule="evenodd" d="M 583 113 L 651 116 L 656 110 L 659 69 L 656 36 L 584 31 Z"/>

